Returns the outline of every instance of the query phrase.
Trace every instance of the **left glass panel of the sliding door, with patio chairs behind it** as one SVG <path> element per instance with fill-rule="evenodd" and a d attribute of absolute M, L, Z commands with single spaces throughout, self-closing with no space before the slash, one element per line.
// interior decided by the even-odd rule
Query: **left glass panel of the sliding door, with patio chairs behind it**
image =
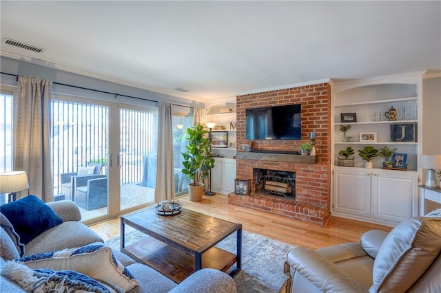
<path fill-rule="evenodd" d="M 108 215 L 109 105 L 52 100 L 55 200 L 70 199 L 83 221 Z"/>

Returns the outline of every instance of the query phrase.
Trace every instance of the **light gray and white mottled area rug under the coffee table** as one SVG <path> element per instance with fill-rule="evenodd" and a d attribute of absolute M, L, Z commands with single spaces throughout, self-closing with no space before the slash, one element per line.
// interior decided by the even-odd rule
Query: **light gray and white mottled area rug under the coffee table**
<path fill-rule="evenodd" d="M 127 232 L 126 241 L 130 244 L 145 237 L 147 236 L 143 233 L 131 230 Z M 120 237 L 106 241 L 106 245 L 119 250 Z M 236 253 L 236 233 L 217 246 Z M 287 252 L 293 247 L 287 243 L 243 231 L 242 270 L 234 276 L 238 292 L 279 292 L 287 280 L 287 276 L 283 273 L 283 263 Z"/>

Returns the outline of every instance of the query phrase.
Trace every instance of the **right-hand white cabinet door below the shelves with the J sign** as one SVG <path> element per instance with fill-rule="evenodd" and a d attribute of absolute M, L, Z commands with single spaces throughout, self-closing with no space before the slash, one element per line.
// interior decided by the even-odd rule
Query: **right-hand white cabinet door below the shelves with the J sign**
<path fill-rule="evenodd" d="M 407 171 L 373 171 L 372 217 L 400 223 L 418 215 L 418 175 Z"/>

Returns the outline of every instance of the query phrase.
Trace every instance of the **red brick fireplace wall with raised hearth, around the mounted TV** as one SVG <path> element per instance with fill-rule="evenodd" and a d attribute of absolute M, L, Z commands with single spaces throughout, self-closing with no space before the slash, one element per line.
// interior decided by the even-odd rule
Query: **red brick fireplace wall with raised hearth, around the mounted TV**
<path fill-rule="evenodd" d="M 302 105 L 302 140 L 245 139 L 245 109 L 272 105 Z M 247 94 L 236 98 L 237 145 L 251 144 L 255 151 L 275 151 L 274 154 L 240 153 L 236 162 L 236 177 L 251 180 L 251 195 L 228 195 L 229 204 L 265 210 L 311 224 L 324 226 L 330 215 L 331 201 L 331 87 L 327 83 L 290 89 Z M 298 151 L 309 142 L 309 133 L 316 133 L 316 158 L 302 155 L 277 154 L 277 151 Z M 295 199 L 256 193 L 254 169 L 295 173 Z"/>

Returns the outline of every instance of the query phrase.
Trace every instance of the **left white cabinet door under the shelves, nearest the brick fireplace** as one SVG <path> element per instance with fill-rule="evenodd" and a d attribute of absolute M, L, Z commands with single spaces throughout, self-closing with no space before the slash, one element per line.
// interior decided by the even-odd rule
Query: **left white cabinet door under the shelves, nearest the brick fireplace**
<path fill-rule="evenodd" d="M 371 171 L 334 169 L 334 210 L 371 217 Z"/>

